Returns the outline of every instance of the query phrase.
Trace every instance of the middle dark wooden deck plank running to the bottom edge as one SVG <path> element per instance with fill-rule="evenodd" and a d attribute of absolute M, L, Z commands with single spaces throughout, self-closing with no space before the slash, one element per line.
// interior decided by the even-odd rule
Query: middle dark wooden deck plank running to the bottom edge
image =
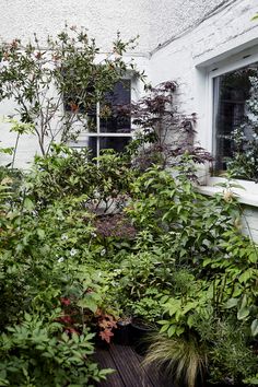
<path fill-rule="evenodd" d="M 130 347 L 112 344 L 109 352 L 126 387 L 154 386 Z"/>

